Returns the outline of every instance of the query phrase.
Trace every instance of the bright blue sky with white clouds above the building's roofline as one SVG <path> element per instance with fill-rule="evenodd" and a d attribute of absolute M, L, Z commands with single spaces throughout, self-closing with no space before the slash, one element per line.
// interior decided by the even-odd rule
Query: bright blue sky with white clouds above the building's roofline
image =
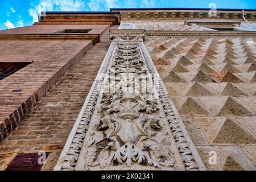
<path fill-rule="evenodd" d="M 256 0 L 0 0 L 0 30 L 28 26 L 41 11 L 109 11 L 109 8 L 191 7 L 256 9 Z"/>

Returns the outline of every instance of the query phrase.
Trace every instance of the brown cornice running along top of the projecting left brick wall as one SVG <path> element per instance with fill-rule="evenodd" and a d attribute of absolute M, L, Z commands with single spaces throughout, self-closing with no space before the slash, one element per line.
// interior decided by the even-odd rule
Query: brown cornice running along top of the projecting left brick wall
<path fill-rule="evenodd" d="M 93 45 L 100 42 L 100 35 L 94 34 L 20 34 L 0 35 L 0 40 L 91 40 Z"/>

